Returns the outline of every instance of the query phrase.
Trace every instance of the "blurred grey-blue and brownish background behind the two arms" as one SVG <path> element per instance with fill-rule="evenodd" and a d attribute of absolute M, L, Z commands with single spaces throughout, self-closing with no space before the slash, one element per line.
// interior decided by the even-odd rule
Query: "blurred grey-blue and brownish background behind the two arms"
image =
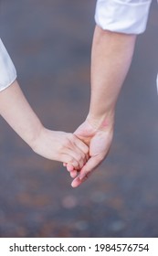
<path fill-rule="evenodd" d="M 4 0 L 0 35 L 26 98 L 73 132 L 90 102 L 95 0 Z M 0 237 L 158 237 L 158 6 L 138 37 L 117 105 L 111 153 L 79 188 L 0 119 Z"/>

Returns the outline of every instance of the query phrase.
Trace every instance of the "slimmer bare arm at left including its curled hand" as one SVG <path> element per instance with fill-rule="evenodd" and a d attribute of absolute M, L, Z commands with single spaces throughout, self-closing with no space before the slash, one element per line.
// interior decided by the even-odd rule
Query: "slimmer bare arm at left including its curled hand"
<path fill-rule="evenodd" d="M 48 130 L 39 121 L 17 81 L 0 93 L 0 113 L 5 121 L 38 155 L 80 169 L 89 148 L 72 133 Z"/>

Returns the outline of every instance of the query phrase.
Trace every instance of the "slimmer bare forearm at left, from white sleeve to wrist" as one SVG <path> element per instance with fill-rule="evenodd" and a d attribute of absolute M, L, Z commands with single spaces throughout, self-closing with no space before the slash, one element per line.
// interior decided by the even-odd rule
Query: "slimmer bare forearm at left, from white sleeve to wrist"
<path fill-rule="evenodd" d="M 33 147 L 43 127 L 21 91 L 17 81 L 0 92 L 0 114 L 15 132 Z"/>

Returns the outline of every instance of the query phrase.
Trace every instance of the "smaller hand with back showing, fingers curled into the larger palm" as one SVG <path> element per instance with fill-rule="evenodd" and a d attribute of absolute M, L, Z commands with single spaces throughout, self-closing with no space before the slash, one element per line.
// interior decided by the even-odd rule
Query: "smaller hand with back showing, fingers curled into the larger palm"
<path fill-rule="evenodd" d="M 89 147 L 72 133 L 47 130 L 42 126 L 32 149 L 48 159 L 65 162 L 81 169 L 88 157 Z"/>

